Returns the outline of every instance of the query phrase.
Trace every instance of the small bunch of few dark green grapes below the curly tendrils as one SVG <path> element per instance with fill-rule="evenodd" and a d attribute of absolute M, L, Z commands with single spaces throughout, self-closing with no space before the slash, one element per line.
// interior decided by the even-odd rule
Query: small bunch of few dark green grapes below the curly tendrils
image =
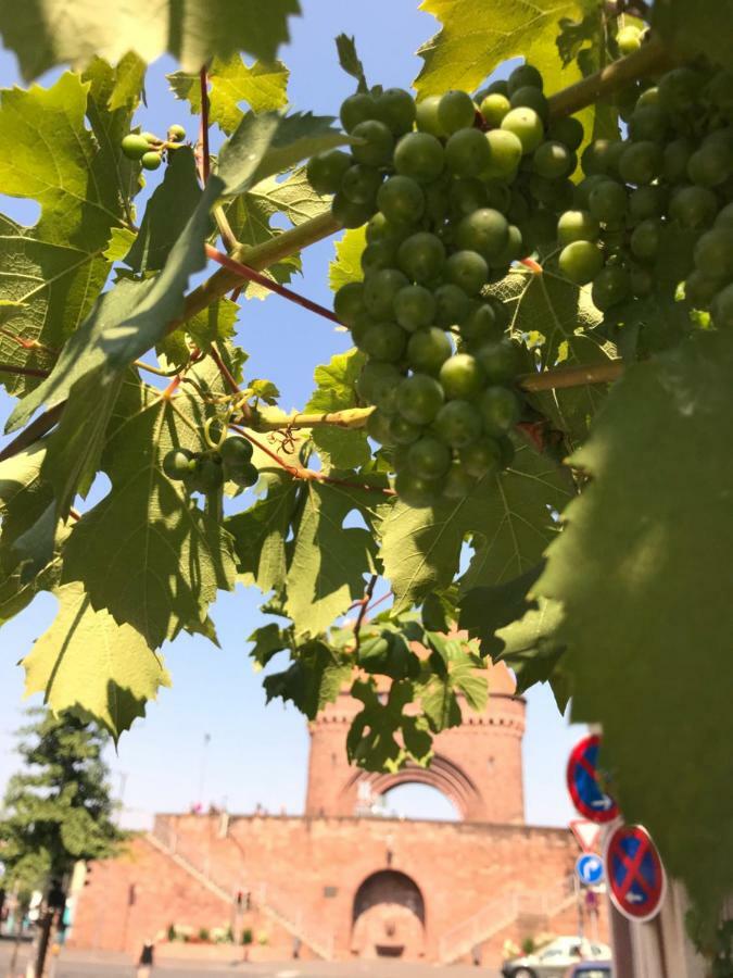
<path fill-rule="evenodd" d="M 260 478 L 252 464 L 252 443 L 240 435 L 226 438 L 218 449 L 191 452 L 173 449 L 163 460 L 163 472 L 174 482 L 182 482 L 189 492 L 216 492 L 225 481 L 247 489 Z"/>

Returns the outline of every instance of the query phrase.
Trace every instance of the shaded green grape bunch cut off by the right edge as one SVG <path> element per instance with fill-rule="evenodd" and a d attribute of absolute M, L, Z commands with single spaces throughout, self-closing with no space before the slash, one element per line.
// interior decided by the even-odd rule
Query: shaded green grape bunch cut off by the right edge
<path fill-rule="evenodd" d="M 560 271 L 605 312 L 660 283 L 674 298 L 673 258 L 690 305 L 733 326 L 733 73 L 675 67 L 620 101 L 625 138 L 587 146 L 558 221 Z"/>

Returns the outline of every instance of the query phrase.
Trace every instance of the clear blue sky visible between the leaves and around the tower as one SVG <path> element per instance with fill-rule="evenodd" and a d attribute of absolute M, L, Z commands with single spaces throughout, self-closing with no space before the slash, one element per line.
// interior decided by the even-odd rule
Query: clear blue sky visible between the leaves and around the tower
<path fill-rule="evenodd" d="M 291 70 L 292 106 L 321 114 L 337 115 L 341 100 L 353 90 L 352 79 L 337 62 L 337 34 L 356 36 L 370 83 L 408 87 L 421 64 L 413 52 L 438 28 L 430 15 L 416 9 L 416 0 L 370 0 L 368 4 L 302 0 L 302 7 L 304 16 L 291 22 L 292 42 L 282 49 L 281 58 Z M 180 122 L 193 137 L 195 121 L 175 102 L 164 78 L 176 66 L 169 59 L 151 66 L 148 108 L 138 121 L 144 129 L 159 133 Z M 48 80 L 41 79 L 41 84 Z M 0 84 L 18 84 L 14 58 L 8 52 L 0 52 Z M 37 214 L 35 205 L 1 195 L 0 206 L 25 223 L 33 223 Z M 332 241 L 309 248 L 303 260 L 304 278 L 296 284 L 325 304 L 330 303 L 327 268 L 332 254 Z M 347 347 L 344 335 L 334 333 L 327 321 L 275 296 L 243 306 L 239 339 L 250 353 L 248 375 L 274 380 L 286 409 L 302 406 L 312 389 L 314 367 Z M 9 412 L 10 399 L 0 393 L 0 423 L 4 424 Z M 257 604 L 253 589 L 224 594 L 213 613 L 220 649 L 200 639 L 181 638 L 166 650 L 174 688 L 164 690 L 159 702 L 149 706 L 148 717 L 122 738 L 118 753 L 110 753 L 115 790 L 125 783 L 130 823 L 138 824 L 155 811 L 186 808 L 197 800 L 226 801 L 233 812 L 248 812 L 256 804 L 270 812 L 302 810 L 307 732 L 296 711 L 283 709 L 279 701 L 265 707 L 261 679 L 252 670 L 245 641 L 263 620 Z M 16 765 L 12 731 L 21 720 L 23 695 L 23 670 L 17 661 L 48 627 L 54 605 L 53 598 L 42 594 L 0 632 L 0 790 Z M 580 732 L 558 715 L 548 689 L 530 692 L 525 740 L 528 822 L 567 825 L 572 817 L 564 772 Z M 211 740 L 204 757 L 205 735 Z M 429 789 L 408 786 L 399 791 L 391 802 L 407 816 L 450 814 L 448 803 Z"/>

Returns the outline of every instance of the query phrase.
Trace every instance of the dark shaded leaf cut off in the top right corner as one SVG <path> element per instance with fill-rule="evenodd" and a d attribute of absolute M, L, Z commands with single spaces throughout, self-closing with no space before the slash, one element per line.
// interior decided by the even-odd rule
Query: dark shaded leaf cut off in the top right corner
<path fill-rule="evenodd" d="M 695 4 L 694 16 L 691 16 L 690 4 L 684 0 L 656 0 L 652 25 L 680 54 L 686 58 L 704 54 L 730 66 L 733 11 L 729 4 L 702 0 Z"/>

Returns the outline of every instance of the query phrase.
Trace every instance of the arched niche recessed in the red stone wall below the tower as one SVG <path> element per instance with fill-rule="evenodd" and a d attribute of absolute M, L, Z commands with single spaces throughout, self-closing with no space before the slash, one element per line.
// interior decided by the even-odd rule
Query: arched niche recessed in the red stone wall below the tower
<path fill-rule="evenodd" d="M 368 876 L 352 910 L 352 953 L 365 958 L 425 954 L 425 900 L 415 880 L 395 869 Z"/>

